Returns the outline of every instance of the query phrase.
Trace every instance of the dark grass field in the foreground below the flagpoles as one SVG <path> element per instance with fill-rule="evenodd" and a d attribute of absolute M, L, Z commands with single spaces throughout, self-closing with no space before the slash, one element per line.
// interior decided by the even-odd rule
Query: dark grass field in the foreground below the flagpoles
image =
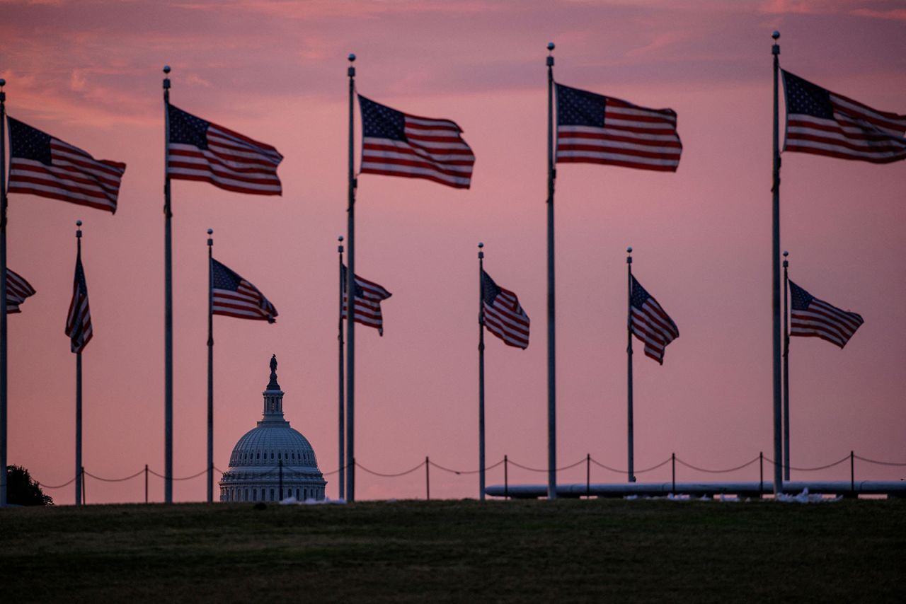
<path fill-rule="evenodd" d="M 0 600 L 906 601 L 906 501 L 0 510 Z"/>

